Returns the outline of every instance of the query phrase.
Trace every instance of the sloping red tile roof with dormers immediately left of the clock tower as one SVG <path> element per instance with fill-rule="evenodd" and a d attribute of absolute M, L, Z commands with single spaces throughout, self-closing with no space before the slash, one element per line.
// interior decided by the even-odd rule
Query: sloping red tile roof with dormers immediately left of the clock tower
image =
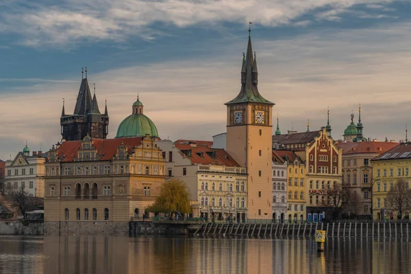
<path fill-rule="evenodd" d="M 213 149 L 207 145 L 174 143 L 181 154 L 192 164 L 215 164 L 220 166 L 240 166 L 224 149 Z M 189 154 L 188 151 L 191 153 Z"/>

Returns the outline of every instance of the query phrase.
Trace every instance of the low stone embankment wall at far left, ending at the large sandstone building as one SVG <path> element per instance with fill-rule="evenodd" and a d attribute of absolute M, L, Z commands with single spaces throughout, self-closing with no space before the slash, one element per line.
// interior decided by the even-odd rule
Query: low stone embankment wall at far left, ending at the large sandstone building
<path fill-rule="evenodd" d="M 44 223 L 0 220 L 0 235 L 43 235 Z"/>

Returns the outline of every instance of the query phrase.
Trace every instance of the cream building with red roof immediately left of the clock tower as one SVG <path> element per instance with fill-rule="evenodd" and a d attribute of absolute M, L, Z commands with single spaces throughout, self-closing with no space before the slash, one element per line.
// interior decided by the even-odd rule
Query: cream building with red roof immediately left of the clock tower
<path fill-rule="evenodd" d="M 224 149 L 210 141 L 157 140 L 166 174 L 186 182 L 192 216 L 210 221 L 247 219 L 247 173 Z"/>

